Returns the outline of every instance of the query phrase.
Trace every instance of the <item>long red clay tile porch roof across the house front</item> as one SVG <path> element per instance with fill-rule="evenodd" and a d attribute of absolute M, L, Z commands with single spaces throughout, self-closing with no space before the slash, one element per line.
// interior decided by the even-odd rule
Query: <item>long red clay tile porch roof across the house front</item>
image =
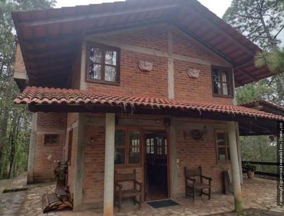
<path fill-rule="evenodd" d="M 242 106 L 225 105 L 218 103 L 206 103 L 197 101 L 174 100 L 158 97 L 144 97 L 133 95 L 118 95 L 96 93 L 77 89 L 26 87 L 14 100 L 16 104 L 27 105 L 69 105 L 69 104 L 99 104 L 110 106 L 134 106 L 150 108 L 169 108 L 207 111 L 213 113 L 225 113 L 244 115 L 259 118 L 268 118 L 284 121 L 284 116 L 259 111 Z"/>

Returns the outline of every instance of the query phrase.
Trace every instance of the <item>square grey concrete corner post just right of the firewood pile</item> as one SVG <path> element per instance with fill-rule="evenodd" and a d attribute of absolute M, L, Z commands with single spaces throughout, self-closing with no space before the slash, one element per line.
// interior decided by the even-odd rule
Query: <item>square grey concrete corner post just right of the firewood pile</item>
<path fill-rule="evenodd" d="M 75 162 L 74 179 L 74 206 L 73 211 L 81 211 L 83 204 L 83 180 L 84 180 L 84 161 L 85 161 L 85 134 L 86 134 L 86 113 L 79 113 L 78 117 L 78 139 L 77 157 Z"/>

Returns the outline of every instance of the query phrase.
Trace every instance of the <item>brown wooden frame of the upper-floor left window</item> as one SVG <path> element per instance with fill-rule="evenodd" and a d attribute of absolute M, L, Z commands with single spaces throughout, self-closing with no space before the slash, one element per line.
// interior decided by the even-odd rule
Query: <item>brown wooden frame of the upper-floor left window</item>
<path fill-rule="evenodd" d="M 89 78 L 89 69 L 90 69 L 90 51 L 91 48 L 99 48 L 102 50 L 102 59 L 101 59 L 101 79 L 96 80 L 96 79 L 91 79 Z M 111 51 L 116 51 L 117 52 L 117 79 L 116 81 L 105 81 L 105 66 L 111 66 L 114 67 L 114 65 L 106 64 L 105 63 L 105 51 L 106 50 L 111 50 Z M 102 45 L 102 44 L 97 44 L 97 43 L 92 43 L 92 42 L 87 42 L 86 44 L 86 67 L 85 67 L 85 81 L 86 82 L 94 82 L 94 83 L 100 83 L 100 84 L 108 84 L 108 85 L 120 85 L 120 48 L 117 47 L 111 47 L 107 45 Z"/>

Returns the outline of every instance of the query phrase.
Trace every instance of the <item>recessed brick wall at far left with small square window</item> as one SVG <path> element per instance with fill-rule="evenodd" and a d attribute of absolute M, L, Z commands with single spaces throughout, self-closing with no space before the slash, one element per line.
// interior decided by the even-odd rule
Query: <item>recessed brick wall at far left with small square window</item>
<path fill-rule="evenodd" d="M 54 180 L 53 169 L 56 165 L 54 161 L 61 161 L 63 157 L 65 122 L 65 113 L 38 113 L 33 170 L 34 182 Z M 59 144 L 55 146 L 45 145 L 45 134 L 58 134 Z M 51 159 L 47 160 L 49 155 Z"/>

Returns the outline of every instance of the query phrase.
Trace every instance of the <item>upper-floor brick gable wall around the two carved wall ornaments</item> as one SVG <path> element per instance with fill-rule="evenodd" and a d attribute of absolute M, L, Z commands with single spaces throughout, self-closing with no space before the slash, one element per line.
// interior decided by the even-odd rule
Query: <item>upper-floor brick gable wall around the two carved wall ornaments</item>
<path fill-rule="evenodd" d="M 94 36 L 94 42 L 117 45 L 121 49 L 120 85 L 87 82 L 87 89 L 96 92 L 168 97 L 168 30 L 169 26 L 160 24 Z M 213 97 L 212 92 L 210 63 L 226 67 L 228 63 L 176 27 L 172 29 L 172 39 L 173 54 L 175 54 L 173 62 L 175 98 L 232 104 L 232 98 Z M 138 68 L 139 60 L 153 62 L 153 70 L 142 72 Z M 200 77 L 190 79 L 189 69 L 201 70 Z"/>

